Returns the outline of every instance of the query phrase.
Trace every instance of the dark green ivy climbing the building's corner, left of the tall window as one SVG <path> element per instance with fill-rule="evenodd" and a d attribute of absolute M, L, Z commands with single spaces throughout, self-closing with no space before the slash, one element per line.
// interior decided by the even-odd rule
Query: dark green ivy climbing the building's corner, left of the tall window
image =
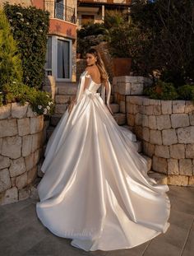
<path fill-rule="evenodd" d="M 44 79 L 49 13 L 35 7 L 4 4 L 4 12 L 18 41 L 23 67 L 23 82 L 40 88 Z"/>

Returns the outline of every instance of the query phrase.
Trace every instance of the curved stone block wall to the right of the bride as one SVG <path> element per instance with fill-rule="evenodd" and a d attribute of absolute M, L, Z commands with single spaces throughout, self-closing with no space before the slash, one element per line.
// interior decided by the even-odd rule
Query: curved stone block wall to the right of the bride
<path fill-rule="evenodd" d="M 152 170 L 168 175 L 168 184 L 194 185 L 192 101 L 142 96 L 143 86 L 150 82 L 144 77 L 115 77 L 113 81 L 114 99 L 142 141 L 144 154 L 152 158 Z"/>

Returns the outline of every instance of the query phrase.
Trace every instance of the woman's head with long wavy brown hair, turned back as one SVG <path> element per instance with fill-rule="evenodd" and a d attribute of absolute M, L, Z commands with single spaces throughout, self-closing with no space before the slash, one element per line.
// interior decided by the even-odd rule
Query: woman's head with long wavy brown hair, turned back
<path fill-rule="evenodd" d="M 96 66 L 99 67 L 99 72 L 100 72 L 102 81 L 108 80 L 109 77 L 104 67 L 104 62 L 99 52 L 96 49 L 94 48 L 88 49 L 88 51 L 85 54 L 85 59 L 86 59 L 87 66 L 92 66 L 96 64 Z"/>

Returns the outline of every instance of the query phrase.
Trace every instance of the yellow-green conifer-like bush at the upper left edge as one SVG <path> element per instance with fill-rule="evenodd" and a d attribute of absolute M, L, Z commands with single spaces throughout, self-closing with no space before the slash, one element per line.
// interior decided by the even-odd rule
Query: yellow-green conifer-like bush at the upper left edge
<path fill-rule="evenodd" d="M 0 88 L 3 84 L 12 82 L 13 79 L 21 81 L 20 57 L 7 17 L 0 10 Z"/>

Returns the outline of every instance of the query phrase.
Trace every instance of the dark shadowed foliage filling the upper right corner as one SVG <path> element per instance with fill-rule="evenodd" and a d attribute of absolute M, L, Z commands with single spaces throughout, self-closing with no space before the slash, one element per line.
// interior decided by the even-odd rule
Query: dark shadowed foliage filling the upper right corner
<path fill-rule="evenodd" d="M 185 77 L 194 79 L 193 12 L 188 0 L 133 1 L 132 21 L 150 41 L 136 57 L 140 73 L 158 70 L 175 87 L 184 85 Z"/>

